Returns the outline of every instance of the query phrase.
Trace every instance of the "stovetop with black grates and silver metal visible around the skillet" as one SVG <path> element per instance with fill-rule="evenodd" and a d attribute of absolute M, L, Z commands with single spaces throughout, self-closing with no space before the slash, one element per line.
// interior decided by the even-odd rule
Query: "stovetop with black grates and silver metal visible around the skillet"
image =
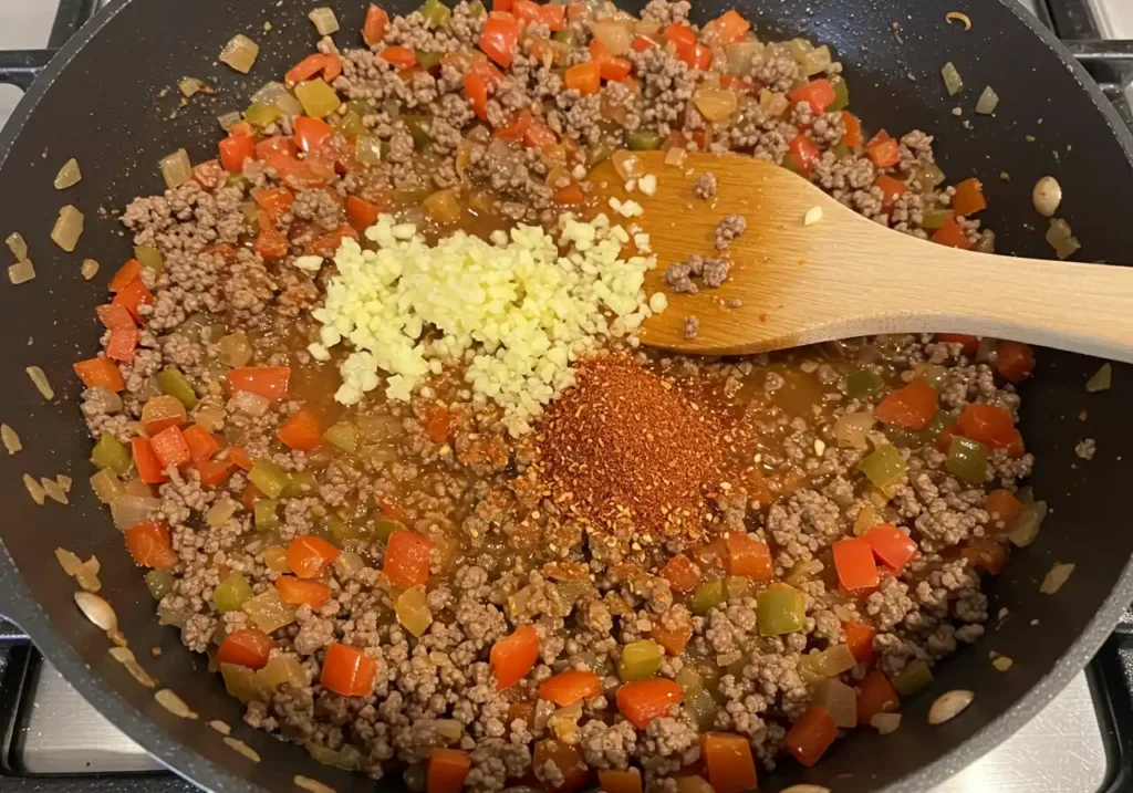
<path fill-rule="evenodd" d="M 1083 2 L 1099 39 L 1133 40 L 1133 0 L 1017 0 L 1040 18 Z M 71 0 L 63 0 L 65 3 Z M 60 0 L 0 0 L 0 51 L 48 44 Z M 73 3 L 74 5 L 74 3 Z M 1089 27 L 1089 25 L 1088 25 Z M 1059 28 L 1059 32 L 1063 31 Z M 1072 32 L 1083 35 L 1081 31 Z M 1066 35 L 1064 33 L 1064 35 Z M 1111 92 L 1116 95 L 1117 92 Z M 0 127 L 19 101 L 0 84 Z M 1133 91 L 1127 93 L 1133 99 Z M 2 604 L 0 604 L 2 612 Z M 932 793 L 1116 793 L 1133 778 L 1133 613 L 1098 657 L 1015 735 Z M 0 622 L 0 790 L 169 788 L 161 764 Z M 138 775 L 143 776 L 138 776 Z M 148 781 L 148 782 L 146 782 Z M 93 783 L 93 787 L 92 787 Z M 174 785 L 180 787 L 179 785 Z"/>

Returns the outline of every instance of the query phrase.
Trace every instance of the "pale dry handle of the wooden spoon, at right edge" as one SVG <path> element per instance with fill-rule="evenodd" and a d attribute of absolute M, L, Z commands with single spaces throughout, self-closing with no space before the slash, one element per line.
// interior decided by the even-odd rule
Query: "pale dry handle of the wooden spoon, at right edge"
<path fill-rule="evenodd" d="M 913 253 L 910 248 L 909 253 Z M 898 330 L 1026 341 L 1133 361 L 1133 267 L 990 256 L 925 244 L 886 297 Z M 880 296 L 877 296 L 880 297 Z"/>

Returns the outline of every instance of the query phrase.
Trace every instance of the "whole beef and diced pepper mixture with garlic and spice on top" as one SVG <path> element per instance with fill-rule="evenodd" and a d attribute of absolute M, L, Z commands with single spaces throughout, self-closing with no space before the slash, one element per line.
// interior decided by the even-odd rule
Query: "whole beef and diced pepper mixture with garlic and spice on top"
<path fill-rule="evenodd" d="M 1046 511 L 1019 488 L 1028 347 L 638 347 L 667 302 L 645 273 L 718 285 L 746 221 L 658 263 L 587 179 L 607 157 L 649 191 L 632 151 L 746 152 L 993 246 L 979 182 L 866 133 L 827 46 L 689 10 L 372 6 L 364 46 L 323 37 L 121 216 L 75 365 L 91 481 L 249 724 L 429 793 L 739 793 L 896 728 L 983 633 L 980 574 Z"/>

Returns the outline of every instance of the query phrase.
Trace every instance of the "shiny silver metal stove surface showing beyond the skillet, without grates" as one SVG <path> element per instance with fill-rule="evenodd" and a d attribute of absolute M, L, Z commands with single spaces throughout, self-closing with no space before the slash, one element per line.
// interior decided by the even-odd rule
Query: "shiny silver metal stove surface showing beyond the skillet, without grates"
<path fill-rule="evenodd" d="M 1032 12 L 1034 0 L 1019 0 Z M 1133 0 L 1091 0 L 1102 35 L 1133 39 Z M 0 0 L 0 50 L 46 44 L 58 0 Z M 0 85 L 0 126 L 19 94 Z M 1131 96 L 1133 99 L 1133 96 Z M 2 604 L 0 604 L 2 612 Z M 1098 793 L 1113 782 L 1113 727 L 1092 673 L 1082 673 L 1005 743 L 932 793 Z M 129 774 L 162 766 L 87 705 L 46 663 L 28 682 L 29 706 L 9 760 L 27 775 Z"/>

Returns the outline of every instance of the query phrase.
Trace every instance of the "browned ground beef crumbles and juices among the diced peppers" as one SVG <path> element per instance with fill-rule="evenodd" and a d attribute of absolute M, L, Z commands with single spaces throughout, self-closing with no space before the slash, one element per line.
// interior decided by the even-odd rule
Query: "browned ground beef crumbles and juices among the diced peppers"
<path fill-rule="evenodd" d="M 687 19 L 689 9 L 687 1 L 651 0 L 644 17 L 667 24 Z M 474 46 L 483 24 L 483 17 L 460 2 L 448 29 L 426 29 L 414 14 L 392 20 L 385 43 L 454 52 Z M 571 23 L 571 29 L 578 44 L 588 41 L 586 25 Z M 668 384 L 718 394 L 736 420 L 758 435 L 753 459 L 766 479 L 764 489 L 721 488 L 708 511 L 716 531 L 747 532 L 769 544 L 777 578 L 817 561 L 808 575 L 796 579 L 807 596 L 804 629 L 780 637 L 759 634 L 753 592 L 704 614 L 690 613 L 688 597 L 674 595 L 657 574 L 671 554 L 691 551 L 680 539 L 665 547 L 627 548 L 616 558 L 591 555 L 569 513 L 523 487 L 523 474 L 538 459 L 537 441 L 509 437 L 499 415 L 471 406 L 459 377 L 434 380 L 411 403 L 370 399 L 347 412 L 347 418 L 382 427 L 378 440 L 357 455 L 337 455 L 325 447 L 292 452 L 275 438 L 282 421 L 303 403 L 318 404 L 329 416 L 342 415 L 330 399 L 337 377 L 333 363 L 318 364 L 305 349 L 317 336 L 308 309 L 320 305 L 333 266 L 329 263 L 317 275 L 292 266 L 320 235 L 346 223 L 342 197 L 373 198 L 390 189 L 431 193 L 470 180 L 474 188 L 497 196 L 493 213 L 501 222 L 553 224 L 557 210 L 552 193 L 559 185 L 546 182 L 555 168 L 563 169 L 560 180 L 580 179 L 595 153 L 622 146 L 625 130 L 663 136 L 704 130 L 706 122 L 689 97 L 712 73 L 690 69 L 665 49 L 653 48 L 630 54 L 641 82 L 640 101 L 615 83 L 581 97 L 563 89 L 555 69 L 526 54 L 533 33 L 528 28 L 514 65 L 491 95 L 488 121 L 503 126 L 517 110 L 531 110 L 550 129 L 578 143 L 565 152 L 547 155 L 493 139 L 485 127 L 469 133 L 475 119 L 461 94 L 463 74 L 453 66 L 444 65 L 437 74 L 418 71 L 406 82 L 374 51 L 356 49 L 341 53 L 343 73 L 334 87 L 350 100 L 369 103 L 363 122 L 382 138 L 383 162 L 341 177 L 330 189 L 296 190 L 295 203 L 279 222 L 290 240 L 284 261 L 267 264 L 248 244 L 252 227 L 245 211 L 250 191 L 278 181 L 259 162 L 249 161 L 242 179 L 216 189 L 189 182 L 131 203 L 123 224 L 136 245 L 161 250 L 165 268 L 143 273 L 155 299 L 144 309 L 146 324 L 134 361 L 121 366 L 123 404 L 119 409 L 102 390 L 92 389 L 83 395 L 83 413 L 92 435 L 109 433 L 128 442 L 138 432 L 142 406 L 156 393 L 154 375 L 177 366 L 199 398 L 194 411 L 199 423 L 207 423 L 227 443 L 244 445 L 253 459 L 267 458 L 286 471 L 317 476 L 315 491 L 282 501 L 280 525 L 265 536 L 256 531 L 248 509 L 238 509 L 215 528 L 203 522 L 219 500 L 239 501 L 247 486 L 241 472 L 223 487 L 205 488 L 194 470 L 169 470 L 171 481 L 157 488 L 161 508 L 155 519 L 168 522 L 179 563 L 160 611 L 163 620 L 180 626 L 193 651 L 214 651 L 225 632 L 247 624 L 242 612 L 220 615 L 213 607 L 213 590 L 224 575 L 244 573 L 255 594 L 266 591 L 280 573 L 269 570 L 265 548 L 286 546 L 297 535 L 331 536 L 331 514 L 350 523 L 350 535 L 334 535 L 334 540 L 357 554 L 360 569 L 337 562 L 327 579 L 330 602 L 317 612 L 300 607 L 296 621 L 273 637 L 273 653 L 301 662 L 307 684 L 283 687 L 248 702 L 249 724 L 309 747 L 338 750 L 344 762 L 378 777 L 383 768 L 411 767 L 427 759 L 434 747 L 450 745 L 437 724 L 455 719 L 463 734 L 452 745 L 470 752 L 471 788 L 499 791 L 531 774 L 554 787 L 562 769 L 553 761 L 536 767 L 533 747 L 556 734 L 548 726 L 555 708 L 539 700 L 528 719 L 514 717 L 513 706 L 535 701 L 538 683 L 554 673 L 593 670 L 603 679 L 604 696 L 587 700 L 578 716 L 578 748 L 586 764 L 598 769 L 636 765 L 645 770 L 649 788 L 667 790 L 665 777 L 699 756 L 697 727 L 680 706 L 646 730 L 633 727 L 614 706 L 621 682 L 617 660 L 625 643 L 648 637 L 654 625 L 691 624 L 687 651 L 666 656 L 658 674 L 674 677 L 688 664 L 738 653 L 718 680 L 714 728 L 748 736 L 761 764 L 774 768 L 790 720 L 810 701 L 800 675 L 803 654 L 843 641 L 843 622 L 852 619 L 878 630 L 879 667 L 894 674 L 912 659 L 934 663 L 957 645 L 976 641 L 988 619 L 979 575 L 960 556 L 969 542 L 987 531 L 985 488 L 948 474 L 945 455 L 931 445 L 903 449 L 908 475 L 892 498 L 876 504 L 855 469 L 863 452 L 840 445 L 834 433 L 840 415 L 874 409 L 872 402 L 846 395 L 846 375 L 863 367 L 900 385 L 918 366 L 939 365 L 945 367 L 939 389 L 944 410 L 956 415 L 963 406 L 981 402 L 1015 416 L 1019 396 L 1013 386 L 997 384 L 991 361 L 974 360 L 959 343 L 913 335 L 742 360 L 629 352 L 637 365 Z M 324 39 L 318 49 L 335 48 Z M 570 50 L 566 65 L 586 58 L 585 46 L 578 46 Z M 836 62 L 829 67 L 832 74 L 840 69 Z M 806 103 L 785 104 L 784 92 L 800 78 L 786 50 L 768 48 L 757 54 L 751 74 L 772 92 L 772 106 L 778 103 L 781 112 L 747 103 L 733 122 L 714 127 L 712 151 L 743 150 L 778 163 L 787 142 L 809 127 L 821 148 L 817 184 L 879 223 L 926 236 L 923 211 L 948 206 L 952 195 L 952 188 L 923 190 L 912 181 L 914 169 L 934 160 L 930 136 L 913 131 L 900 138 L 900 163 L 885 172 L 910 182 L 909 190 L 883 211 L 880 190 L 872 186 L 878 170 L 864 156 L 834 151 L 844 134 L 841 114 L 815 118 Z M 411 113 L 428 119 L 432 145 L 425 152 L 415 151 L 406 121 Z M 284 118 L 264 131 L 290 129 Z M 696 144 L 690 138 L 688 145 Z M 696 193 L 710 198 L 715 187 L 715 178 L 705 173 Z M 419 212 L 409 208 L 407 215 L 419 220 Z M 961 222 L 973 241 L 980 239 L 978 221 Z M 725 248 L 744 225 L 743 218 L 725 218 L 717 247 Z M 989 244 L 986 236 L 983 242 Z M 727 262 L 697 259 L 668 267 L 665 279 L 674 291 L 696 292 L 692 278 L 706 287 L 726 278 Z M 690 316 L 689 338 L 697 325 Z M 229 399 L 219 344 L 222 335 L 233 333 L 246 334 L 253 365 L 292 367 L 287 400 L 249 412 Z M 451 417 L 440 442 L 426 432 L 437 406 Z M 876 427 L 869 440 L 888 443 Z M 1079 454 L 1092 454 L 1092 444 L 1088 449 L 1083 443 Z M 994 452 L 988 484 L 1014 489 L 1031 466 L 1029 454 Z M 378 525 L 391 514 L 391 505 L 408 528 L 436 544 L 427 594 L 434 622 L 420 639 L 393 616 L 394 595 L 380 573 L 384 547 Z M 838 596 L 829 549 L 852 534 L 867 508 L 908 530 L 920 554 L 898 575 L 884 579 L 878 591 L 855 600 Z M 589 586 L 582 591 L 564 595 L 548 566 L 564 562 L 583 565 Z M 538 631 L 539 659 L 521 683 L 497 692 L 488 649 L 519 624 Z M 372 694 L 341 697 L 318 684 L 322 656 L 332 641 L 364 648 L 378 662 Z M 845 680 L 852 683 L 864 672 L 859 666 Z"/>

